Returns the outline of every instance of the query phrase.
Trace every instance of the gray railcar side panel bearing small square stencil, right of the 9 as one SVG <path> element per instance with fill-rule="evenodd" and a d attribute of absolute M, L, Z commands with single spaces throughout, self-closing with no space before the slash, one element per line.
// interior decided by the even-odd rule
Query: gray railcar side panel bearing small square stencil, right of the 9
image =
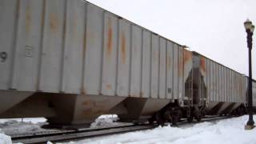
<path fill-rule="evenodd" d="M 15 1 L 15 2 L 18 2 L 18 1 Z M 19 2 L 18 19 L 17 19 L 18 21 L 17 22 L 18 24 L 17 38 L 14 40 L 16 41 L 16 43 L 15 43 L 14 53 L 13 53 L 14 69 L 12 73 L 13 74 L 12 82 L 10 82 L 12 83 L 11 85 L 12 89 L 27 90 L 27 91 L 38 90 L 38 74 L 39 74 L 38 66 L 40 66 L 39 53 L 41 50 L 41 41 L 42 41 L 41 32 L 42 32 L 42 22 L 43 22 L 42 20 L 43 9 L 44 9 L 44 4 L 42 1 L 41 2 L 20 1 Z M 2 14 L 8 14 L 8 10 L 6 10 L 5 12 L 2 12 Z M 4 23 L 4 22 L 5 20 L 1 20 L 0 23 Z M 6 36 L 8 36 L 8 34 L 5 35 L 4 37 L 6 38 Z M 6 39 L 6 42 L 8 42 L 7 39 Z M 5 42 L 1 42 L 1 44 L 3 44 L 3 46 L 1 46 L 1 49 L 5 48 L 4 43 Z M 9 56 L 9 58 L 11 57 Z M 5 69 L 4 66 L 1 66 L 1 67 Z M 1 74 L 1 76 L 3 75 Z"/>

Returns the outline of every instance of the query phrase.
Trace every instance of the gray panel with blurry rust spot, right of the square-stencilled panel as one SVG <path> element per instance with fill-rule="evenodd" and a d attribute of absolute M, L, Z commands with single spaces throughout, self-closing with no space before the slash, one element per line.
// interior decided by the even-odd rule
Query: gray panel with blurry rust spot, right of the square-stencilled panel
<path fill-rule="evenodd" d="M 57 93 L 62 83 L 66 1 L 46 1 L 39 90 Z"/>

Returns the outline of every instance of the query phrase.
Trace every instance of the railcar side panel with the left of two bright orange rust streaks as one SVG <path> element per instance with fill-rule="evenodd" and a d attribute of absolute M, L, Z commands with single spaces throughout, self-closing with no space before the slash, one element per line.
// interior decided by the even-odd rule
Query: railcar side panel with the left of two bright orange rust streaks
<path fill-rule="evenodd" d="M 106 12 L 104 22 L 102 94 L 115 95 L 118 65 L 118 18 Z"/>

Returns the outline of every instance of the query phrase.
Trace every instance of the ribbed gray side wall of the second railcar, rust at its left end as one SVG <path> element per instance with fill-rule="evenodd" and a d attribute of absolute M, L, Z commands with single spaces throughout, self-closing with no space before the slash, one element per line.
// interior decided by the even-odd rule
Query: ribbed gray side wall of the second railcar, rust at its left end
<path fill-rule="evenodd" d="M 246 77 L 202 55 L 199 57 L 208 102 L 246 102 Z"/>

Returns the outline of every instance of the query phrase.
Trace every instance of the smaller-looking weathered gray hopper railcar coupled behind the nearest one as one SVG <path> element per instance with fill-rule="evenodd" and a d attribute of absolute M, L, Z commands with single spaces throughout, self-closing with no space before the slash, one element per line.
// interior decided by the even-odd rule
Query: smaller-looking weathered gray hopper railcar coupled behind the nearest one
<path fill-rule="evenodd" d="M 193 52 L 194 104 L 205 114 L 230 114 L 246 105 L 247 78 Z"/>

